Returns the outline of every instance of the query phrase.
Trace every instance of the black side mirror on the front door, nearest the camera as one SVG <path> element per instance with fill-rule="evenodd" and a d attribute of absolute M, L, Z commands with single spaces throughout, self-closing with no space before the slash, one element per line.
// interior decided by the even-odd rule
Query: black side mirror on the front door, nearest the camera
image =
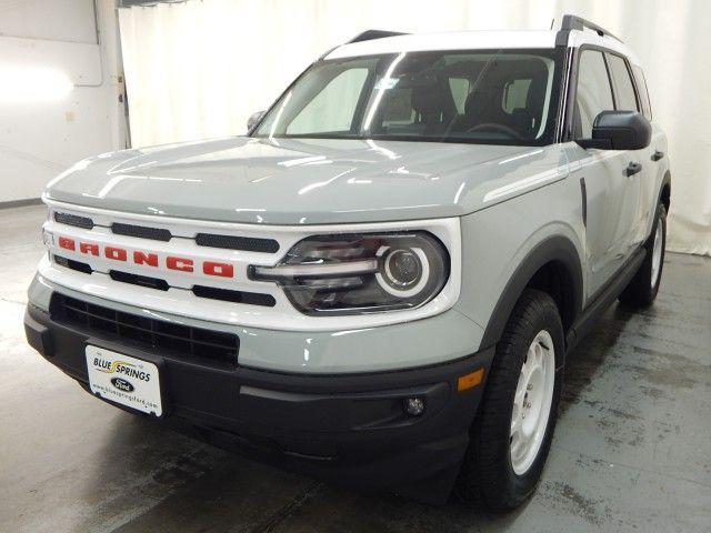
<path fill-rule="evenodd" d="M 592 124 L 592 139 L 578 139 L 582 148 L 641 150 L 652 140 L 652 125 L 637 111 L 602 111 Z"/>

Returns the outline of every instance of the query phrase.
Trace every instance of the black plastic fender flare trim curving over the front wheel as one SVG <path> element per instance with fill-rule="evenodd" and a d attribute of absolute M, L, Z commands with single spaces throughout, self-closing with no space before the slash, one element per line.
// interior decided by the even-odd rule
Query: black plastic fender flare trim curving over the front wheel
<path fill-rule="evenodd" d="M 571 323 L 574 322 L 582 310 L 583 276 L 580 257 L 573 243 L 561 235 L 554 235 L 537 244 L 515 269 L 507 285 L 499 296 L 491 318 L 484 329 L 482 348 L 489 348 L 499 342 L 503 329 L 511 316 L 513 306 L 521 298 L 523 290 L 533 275 L 544 264 L 555 261 L 561 263 L 570 274 L 572 283 L 572 312 Z M 565 334 L 567 332 L 563 332 Z"/>

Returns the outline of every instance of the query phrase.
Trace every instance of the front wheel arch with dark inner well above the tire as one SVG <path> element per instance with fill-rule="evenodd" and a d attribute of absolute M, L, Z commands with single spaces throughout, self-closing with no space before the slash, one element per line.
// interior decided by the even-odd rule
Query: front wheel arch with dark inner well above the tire
<path fill-rule="evenodd" d="M 570 290 L 564 290 L 567 286 Z M 559 306 L 563 334 L 568 333 L 582 310 L 583 301 L 582 265 L 570 239 L 550 237 L 525 255 L 499 296 L 484 329 L 482 346 L 488 348 L 499 342 L 515 303 L 529 288 L 543 290 L 549 294 L 553 292 L 551 296 Z"/>

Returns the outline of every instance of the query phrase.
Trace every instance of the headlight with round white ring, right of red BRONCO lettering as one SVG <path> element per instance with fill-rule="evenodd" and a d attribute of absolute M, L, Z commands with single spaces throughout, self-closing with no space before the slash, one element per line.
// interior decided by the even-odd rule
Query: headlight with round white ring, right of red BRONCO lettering
<path fill-rule="evenodd" d="M 413 231 L 310 237 L 250 275 L 279 283 L 302 313 L 327 315 L 418 308 L 442 290 L 449 270 L 442 243 Z"/>

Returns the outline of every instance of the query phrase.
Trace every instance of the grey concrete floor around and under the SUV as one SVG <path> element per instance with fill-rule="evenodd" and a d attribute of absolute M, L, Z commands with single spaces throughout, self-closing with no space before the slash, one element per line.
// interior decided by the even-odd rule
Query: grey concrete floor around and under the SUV
<path fill-rule="evenodd" d="M 711 531 L 711 260 L 569 359 L 538 493 L 507 516 L 333 489 L 94 400 L 26 343 L 40 207 L 0 211 L 0 531 Z"/>

